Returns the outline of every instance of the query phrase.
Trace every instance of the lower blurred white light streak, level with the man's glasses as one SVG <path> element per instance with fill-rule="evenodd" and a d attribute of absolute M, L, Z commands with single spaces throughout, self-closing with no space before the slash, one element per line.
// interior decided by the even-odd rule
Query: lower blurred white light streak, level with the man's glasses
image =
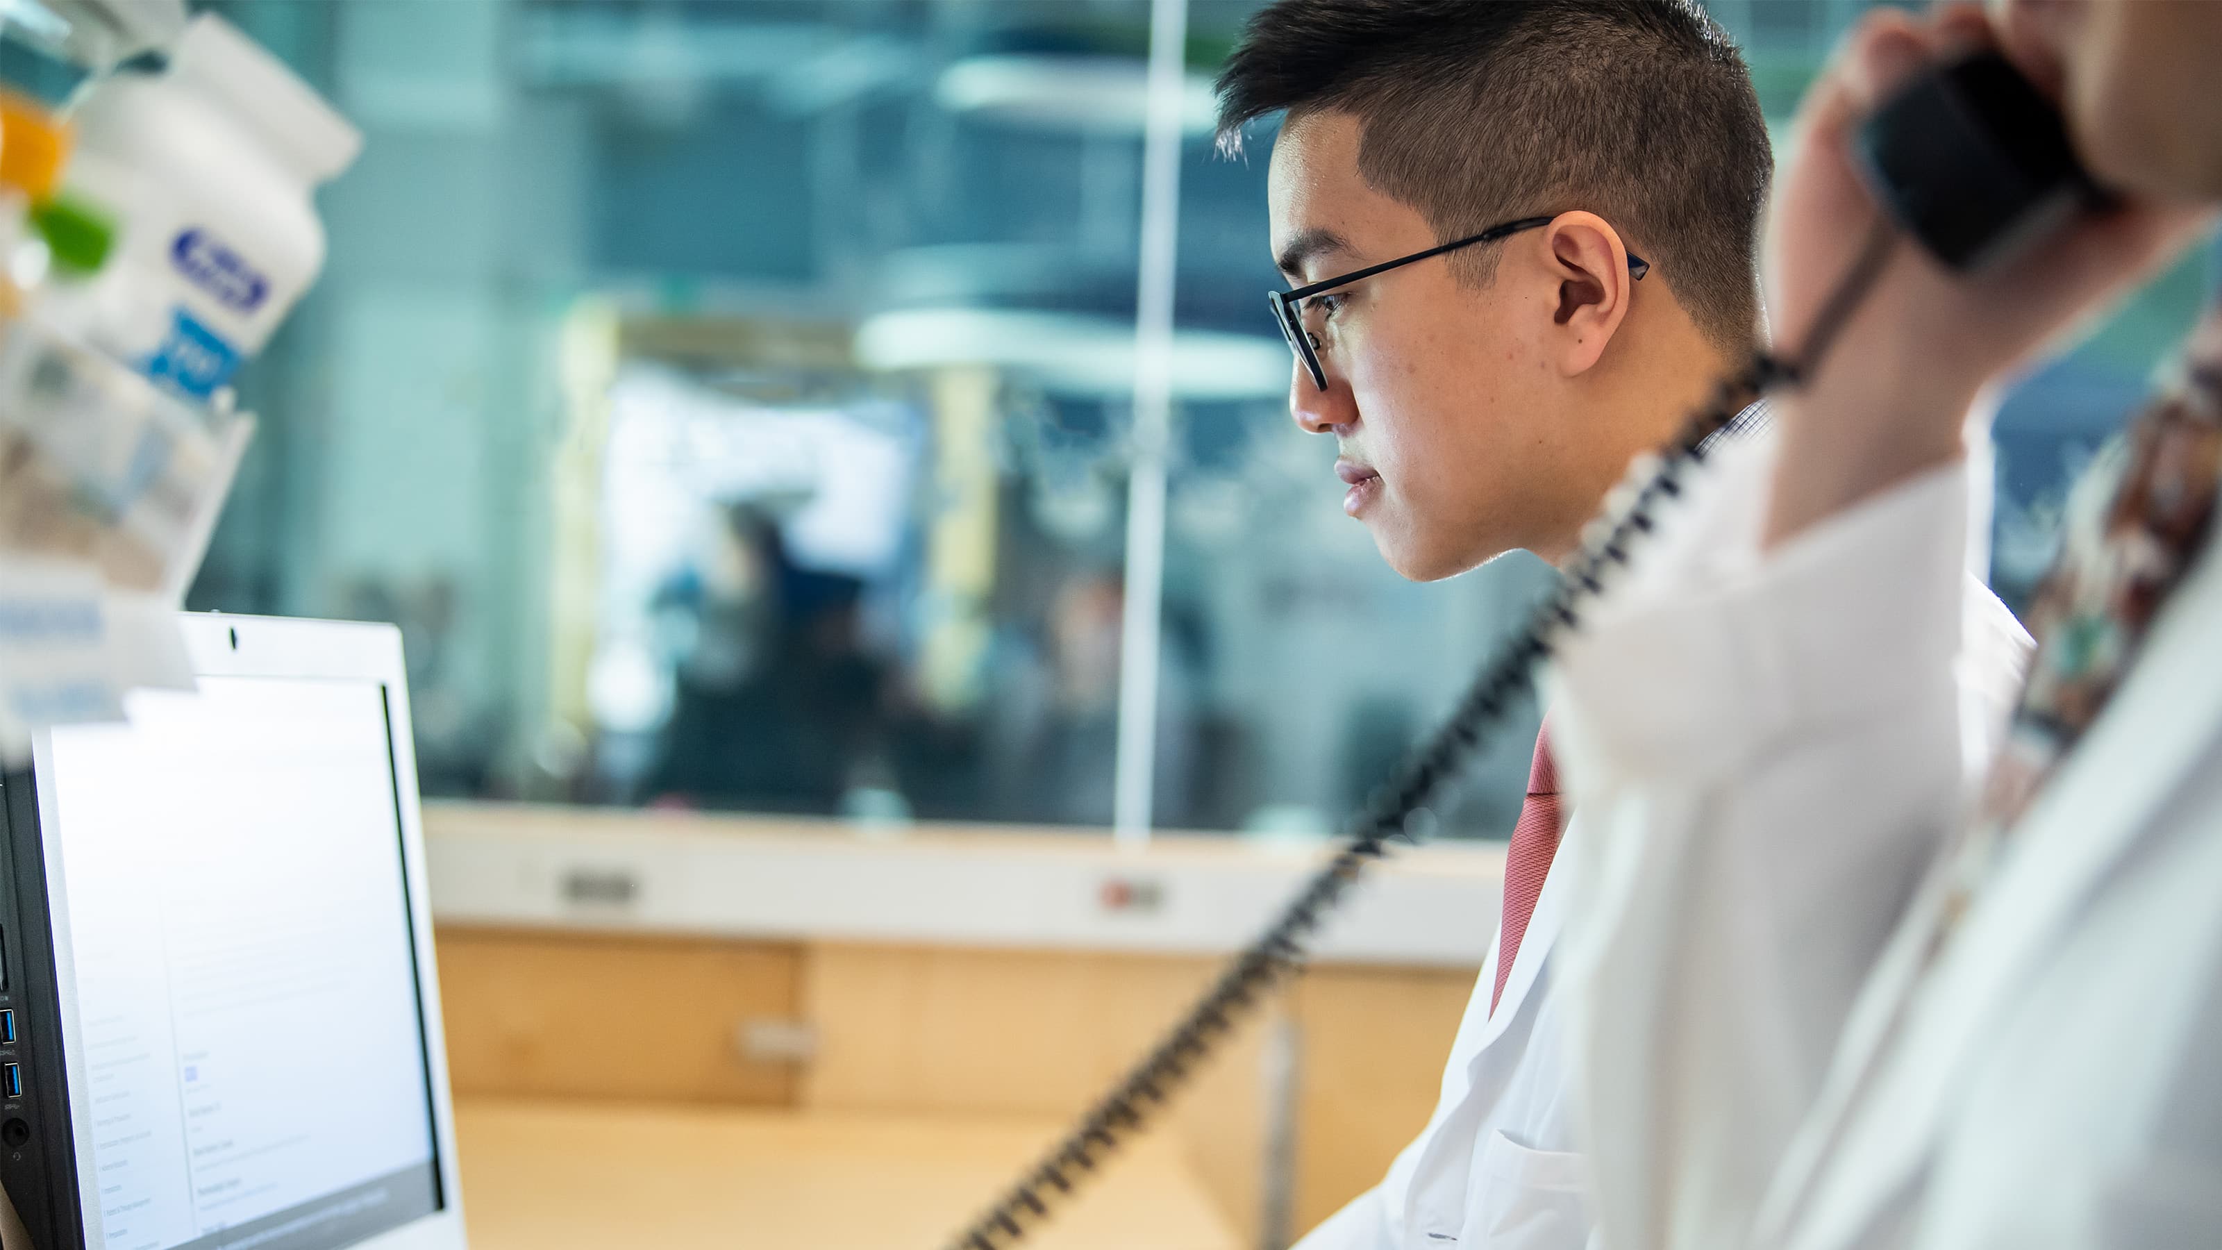
<path fill-rule="evenodd" d="M 991 365 L 1064 396 L 1133 394 L 1133 323 L 1022 309 L 904 309 L 864 320 L 855 358 L 867 369 Z M 1182 329 L 1173 336 L 1173 396 L 1273 398 L 1289 391 L 1278 338 Z"/>

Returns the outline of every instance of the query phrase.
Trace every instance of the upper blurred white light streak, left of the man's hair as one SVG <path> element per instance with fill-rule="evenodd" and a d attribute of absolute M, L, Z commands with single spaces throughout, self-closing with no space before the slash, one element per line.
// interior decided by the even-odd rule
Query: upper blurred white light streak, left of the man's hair
<path fill-rule="evenodd" d="M 1149 109 L 1147 78 L 1144 65 L 1127 56 L 969 56 L 942 69 L 933 100 L 951 113 L 1015 127 L 1140 136 Z M 1187 73 L 1180 85 L 1182 129 L 1211 133 L 1215 118 L 1211 80 Z"/>

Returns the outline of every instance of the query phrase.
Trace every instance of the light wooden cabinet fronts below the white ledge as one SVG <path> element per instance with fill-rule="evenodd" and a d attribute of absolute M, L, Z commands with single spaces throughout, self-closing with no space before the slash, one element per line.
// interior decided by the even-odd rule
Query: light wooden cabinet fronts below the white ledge
<path fill-rule="evenodd" d="M 1084 1110 L 1218 972 L 1195 956 L 578 930 L 442 925 L 438 943 L 458 1097 L 1009 1117 L 1044 1125 L 1044 1145 L 1047 1125 Z M 1287 1097 L 1289 1221 L 1311 1228 L 1427 1123 L 1471 990 L 1471 970 L 1311 970 L 1198 1074 L 1153 1150 L 1253 1246 L 1267 1125 Z M 747 1052 L 751 1025 L 782 1021 L 807 1025 L 809 1059 Z M 1275 1025 L 1293 1025 L 1280 1092 L 1267 1061 Z"/>

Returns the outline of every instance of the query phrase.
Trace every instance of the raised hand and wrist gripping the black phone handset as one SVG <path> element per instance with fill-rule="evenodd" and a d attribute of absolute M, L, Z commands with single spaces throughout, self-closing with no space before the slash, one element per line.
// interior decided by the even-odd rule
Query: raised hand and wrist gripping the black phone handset
<path fill-rule="evenodd" d="M 1978 403 L 1986 385 L 2131 289 L 2202 225 L 2198 209 L 2142 200 L 2135 167 L 2098 165 L 2106 196 L 2075 171 L 2069 133 L 2035 89 L 2069 78 L 2053 62 L 2069 53 L 2033 31 L 2044 20 L 2035 9 L 2009 7 L 2000 27 L 1971 7 L 1880 9 L 1800 107 L 1766 225 L 1775 336 L 1804 338 L 1878 205 L 1926 256 L 1895 256 L 1833 360 L 1778 405 L 1769 545 L 1962 458 L 1980 429 L 1971 416 L 1989 411 Z M 2000 44 L 2013 65 L 1989 51 Z M 1938 65 L 1949 69 L 1929 71 Z M 2091 91 L 2104 76 L 2078 82 Z M 2075 205 L 2104 211 L 2075 216 Z"/>

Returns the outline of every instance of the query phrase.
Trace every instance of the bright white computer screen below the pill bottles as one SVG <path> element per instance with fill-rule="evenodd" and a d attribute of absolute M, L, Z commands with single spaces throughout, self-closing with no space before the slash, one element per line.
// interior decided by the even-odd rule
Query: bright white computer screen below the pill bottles
<path fill-rule="evenodd" d="M 56 730 L 40 778 L 87 1246 L 329 1250 L 431 1214 L 384 685 L 202 676 L 129 714 Z"/>

